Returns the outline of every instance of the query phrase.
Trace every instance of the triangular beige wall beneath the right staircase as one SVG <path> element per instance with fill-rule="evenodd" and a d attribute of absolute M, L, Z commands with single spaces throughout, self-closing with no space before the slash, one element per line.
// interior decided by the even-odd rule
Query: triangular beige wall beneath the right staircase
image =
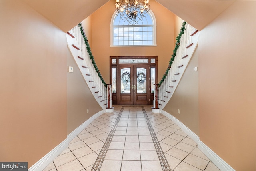
<path fill-rule="evenodd" d="M 198 49 L 194 52 L 178 87 L 163 110 L 199 136 L 198 71 L 194 71 L 196 66 L 198 66 Z"/>

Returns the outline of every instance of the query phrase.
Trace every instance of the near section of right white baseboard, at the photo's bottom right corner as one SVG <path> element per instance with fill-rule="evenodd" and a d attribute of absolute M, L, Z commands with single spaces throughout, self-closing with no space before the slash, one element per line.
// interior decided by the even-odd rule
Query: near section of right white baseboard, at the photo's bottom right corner
<path fill-rule="evenodd" d="M 221 171 L 235 171 L 228 163 L 220 158 L 214 151 L 212 151 L 207 145 L 199 140 L 198 148 L 216 165 Z"/>

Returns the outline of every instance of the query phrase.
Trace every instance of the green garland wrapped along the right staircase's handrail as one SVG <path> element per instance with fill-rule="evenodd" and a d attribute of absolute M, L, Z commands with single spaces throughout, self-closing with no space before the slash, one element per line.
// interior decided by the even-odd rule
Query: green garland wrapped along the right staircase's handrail
<path fill-rule="evenodd" d="M 182 27 L 181 27 L 181 29 L 180 29 L 180 33 L 179 33 L 178 36 L 176 37 L 176 45 L 175 45 L 175 48 L 174 48 L 174 50 L 173 50 L 172 57 L 171 57 L 171 59 L 170 59 L 170 61 L 169 61 L 168 68 L 167 68 L 166 72 L 164 73 L 164 76 L 163 76 L 162 80 L 159 82 L 158 87 L 160 87 L 160 85 L 162 84 L 162 82 L 164 82 L 164 79 L 167 77 L 168 72 L 169 72 L 169 70 L 170 70 L 170 68 L 171 68 L 171 66 L 172 66 L 172 62 L 174 61 L 174 58 L 175 58 L 175 56 L 176 56 L 176 52 L 177 52 L 178 48 L 180 47 L 180 38 L 181 38 L 182 34 L 184 34 L 184 30 L 186 29 L 185 26 L 186 26 L 186 22 L 184 21 L 184 22 L 182 23 Z"/>

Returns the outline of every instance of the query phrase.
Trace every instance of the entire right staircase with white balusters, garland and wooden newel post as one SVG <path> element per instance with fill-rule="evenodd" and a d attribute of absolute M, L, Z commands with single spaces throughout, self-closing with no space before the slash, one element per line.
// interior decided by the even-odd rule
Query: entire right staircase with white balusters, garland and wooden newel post
<path fill-rule="evenodd" d="M 176 38 L 177 42 L 169 66 L 159 84 L 154 84 L 154 106 L 152 107 L 152 112 L 160 113 L 174 94 L 196 50 L 198 37 L 198 30 L 186 22 L 182 24 L 180 34 Z"/>

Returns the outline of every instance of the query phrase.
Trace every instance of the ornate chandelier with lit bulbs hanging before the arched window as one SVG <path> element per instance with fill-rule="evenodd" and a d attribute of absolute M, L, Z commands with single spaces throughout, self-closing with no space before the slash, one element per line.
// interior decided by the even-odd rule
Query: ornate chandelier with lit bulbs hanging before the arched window
<path fill-rule="evenodd" d="M 134 25 L 148 15 L 149 0 L 116 0 L 116 15 Z"/>

